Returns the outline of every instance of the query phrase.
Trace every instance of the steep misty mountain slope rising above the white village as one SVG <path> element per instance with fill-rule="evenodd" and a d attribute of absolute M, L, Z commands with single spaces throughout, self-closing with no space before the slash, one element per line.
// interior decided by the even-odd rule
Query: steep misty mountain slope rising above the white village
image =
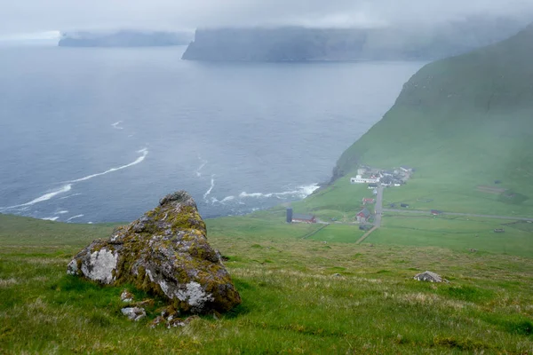
<path fill-rule="evenodd" d="M 393 108 L 338 160 L 532 177 L 533 25 L 501 43 L 423 67 Z"/>

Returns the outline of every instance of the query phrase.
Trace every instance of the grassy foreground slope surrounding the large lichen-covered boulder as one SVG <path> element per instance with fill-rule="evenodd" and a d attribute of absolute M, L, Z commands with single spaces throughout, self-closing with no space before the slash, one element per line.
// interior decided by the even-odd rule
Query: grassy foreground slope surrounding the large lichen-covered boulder
<path fill-rule="evenodd" d="M 533 259 L 304 240 L 317 226 L 283 224 L 276 214 L 207 221 L 211 244 L 228 257 L 243 304 L 221 319 L 203 317 L 171 329 L 125 319 L 122 288 L 66 274 L 70 257 L 106 236 L 111 225 L 0 215 L 0 353 L 533 349 Z M 426 270 L 450 282 L 412 280 Z M 155 307 L 147 311 L 156 314 Z"/>

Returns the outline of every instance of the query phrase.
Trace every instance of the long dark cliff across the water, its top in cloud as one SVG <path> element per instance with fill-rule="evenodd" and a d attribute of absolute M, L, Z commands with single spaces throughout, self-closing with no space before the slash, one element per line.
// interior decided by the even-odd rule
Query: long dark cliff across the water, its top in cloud
<path fill-rule="evenodd" d="M 199 29 L 183 59 L 212 61 L 431 60 L 513 36 L 524 22 L 469 19 L 394 28 Z"/>

